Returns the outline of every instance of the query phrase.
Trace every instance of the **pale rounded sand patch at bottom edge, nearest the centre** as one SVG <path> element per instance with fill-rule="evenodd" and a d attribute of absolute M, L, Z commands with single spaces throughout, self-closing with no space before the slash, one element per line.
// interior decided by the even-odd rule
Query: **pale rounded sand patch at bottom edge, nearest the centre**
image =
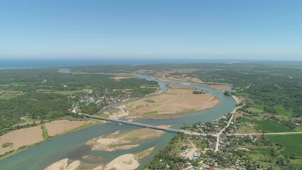
<path fill-rule="evenodd" d="M 133 154 L 125 154 L 115 158 L 109 164 L 106 165 L 105 170 L 115 169 L 136 169 L 140 164 L 135 160 Z"/>

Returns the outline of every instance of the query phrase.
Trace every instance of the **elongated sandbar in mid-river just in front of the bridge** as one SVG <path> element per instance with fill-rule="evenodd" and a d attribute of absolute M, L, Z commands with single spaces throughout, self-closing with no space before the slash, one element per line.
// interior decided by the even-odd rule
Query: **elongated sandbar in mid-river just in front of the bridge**
<path fill-rule="evenodd" d="M 161 125 L 161 127 L 169 128 L 169 125 Z M 139 146 L 138 141 L 156 138 L 163 135 L 164 131 L 154 129 L 138 129 L 126 133 L 116 131 L 110 135 L 104 135 L 89 140 L 86 144 L 92 145 L 91 150 L 97 151 L 116 151 L 128 150 Z"/>

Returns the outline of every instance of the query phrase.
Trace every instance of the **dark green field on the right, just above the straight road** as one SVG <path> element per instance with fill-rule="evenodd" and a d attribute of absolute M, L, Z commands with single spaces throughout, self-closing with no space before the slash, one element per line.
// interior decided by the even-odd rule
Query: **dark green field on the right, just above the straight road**
<path fill-rule="evenodd" d="M 246 122 L 259 124 L 261 125 L 261 130 L 265 132 L 296 132 L 293 129 L 287 128 L 281 123 L 261 119 L 261 120 L 252 120 L 252 119 L 245 119 Z"/>

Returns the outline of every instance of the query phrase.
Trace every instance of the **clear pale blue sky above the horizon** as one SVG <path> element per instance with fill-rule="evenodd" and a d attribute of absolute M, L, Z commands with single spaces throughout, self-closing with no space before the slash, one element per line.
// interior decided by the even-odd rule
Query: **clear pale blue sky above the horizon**
<path fill-rule="evenodd" d="M 0 59 L 302 60 L 302 1 L 0 1 Z"/>

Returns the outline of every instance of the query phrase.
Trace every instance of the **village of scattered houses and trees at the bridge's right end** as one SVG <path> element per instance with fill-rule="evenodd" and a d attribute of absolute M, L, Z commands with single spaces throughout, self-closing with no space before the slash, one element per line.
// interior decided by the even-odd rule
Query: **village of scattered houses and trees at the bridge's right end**
<path fill-rule="evenodd" d="M 179 147 L 177 148 L 179 150 L 178 156 L 184 158 L 184 161 L 175 164 L 177 169 L 262 168 L 261 165 L 244 156 L 249 151 L 245 146 L 262 145 L 269 142 L 259 135 L 236 135 L 238 126 L 250 126 L 245 122 L 239 123 L 236 119 L 231 120 L 230 125 L 219 136 L 218 150 L 216 151 L 217 135 L 227 125 L 232 114 L 228 113 L 211 122 L 183 125 L 183 130 L 206 135 L 185 135 L 183 140 L 178 140 L 176 145 Z"/>

